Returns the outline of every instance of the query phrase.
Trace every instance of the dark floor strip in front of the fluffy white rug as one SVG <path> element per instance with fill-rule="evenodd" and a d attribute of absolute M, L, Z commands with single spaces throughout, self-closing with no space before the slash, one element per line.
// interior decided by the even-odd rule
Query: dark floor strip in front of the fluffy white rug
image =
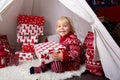
<path fill-rule="evenodd" d="M 72 78 L 68 78 L 65 80 L 109 80 L 106 77 L 100 77 L 100 76 L 96 76 L 90 73 L 87 74 L 83 74 L 81 76 L 73 76 Z"/>

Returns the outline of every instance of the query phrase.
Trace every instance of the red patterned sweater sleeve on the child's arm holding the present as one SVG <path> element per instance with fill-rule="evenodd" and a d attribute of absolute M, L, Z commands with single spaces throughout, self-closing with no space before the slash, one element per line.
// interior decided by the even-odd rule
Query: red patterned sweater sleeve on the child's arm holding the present
<path fill-rule="evenodd" d="M 81 42 L 79 39 L 69 39 L 68 40 L 68 50 L 63 52 L 63 60 L 62 61 L 70 61 L 75 60 L 80 57 L 81 53 Z"/>

